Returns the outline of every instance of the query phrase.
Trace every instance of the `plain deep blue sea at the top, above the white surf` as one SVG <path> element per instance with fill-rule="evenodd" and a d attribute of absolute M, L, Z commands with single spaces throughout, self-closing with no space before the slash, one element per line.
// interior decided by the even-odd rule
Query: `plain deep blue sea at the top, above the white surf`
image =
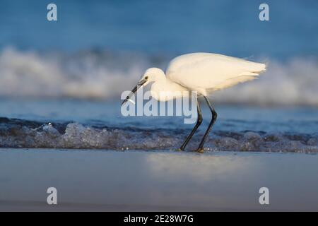
<path fill-rule="evenodd" d="M 318 53 L 318 2 L 54 1 L 58 21 L 46 19 L 52 1 L 0 1 L 0 47 L 41 51 L 111 49 L 175 56 L 216 52 L 288 59 Z"/>

